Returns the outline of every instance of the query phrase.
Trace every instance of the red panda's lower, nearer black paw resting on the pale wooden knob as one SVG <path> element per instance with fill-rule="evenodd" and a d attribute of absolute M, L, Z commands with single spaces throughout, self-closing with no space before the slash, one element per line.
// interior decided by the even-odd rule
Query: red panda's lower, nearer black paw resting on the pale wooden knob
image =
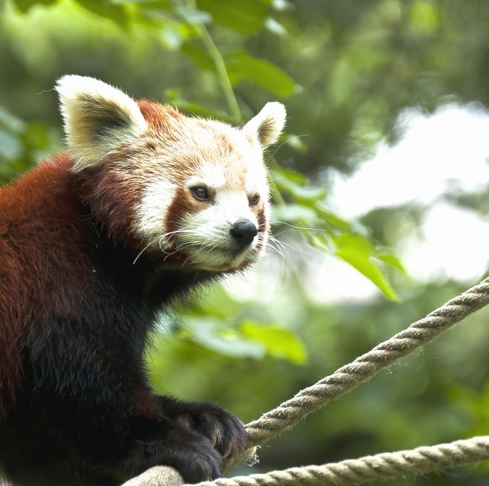
<path fill-rule="evenodd" d="M 222 458 L 213 444 L 191 430 L 171 429 L 163 441 L 136 441 L 132 454 L 135 474 L 153 465 L 178 469 L 185 484 L 222 477 Z"/>

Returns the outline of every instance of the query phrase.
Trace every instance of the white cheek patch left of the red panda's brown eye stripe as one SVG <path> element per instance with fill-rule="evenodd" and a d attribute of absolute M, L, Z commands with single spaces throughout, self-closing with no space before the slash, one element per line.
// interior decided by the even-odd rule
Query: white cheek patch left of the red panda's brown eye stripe
<path fill-rule="evenodd" d="M 151 246 L 157 247 L 165 243 L 159 241 L 165 231 L 168 210 L 175 197 L 177 186 L 161 177 L 152 182 L 144 191 L 141 204 L 136 215 L 136 232 Z"/>

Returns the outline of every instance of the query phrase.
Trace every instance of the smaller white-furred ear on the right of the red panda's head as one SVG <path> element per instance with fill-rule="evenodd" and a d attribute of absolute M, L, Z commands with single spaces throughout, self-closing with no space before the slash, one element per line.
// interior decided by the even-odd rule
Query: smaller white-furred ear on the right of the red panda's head
<path fill-rule="evenodd" d="M 246 133 L 258 137 L 258 141 L 265 149 L 275 143 L 282 133 L 285 125 L 285 106 L 278 101 L 267 103 L 262 110 L 244 125 Z"/>

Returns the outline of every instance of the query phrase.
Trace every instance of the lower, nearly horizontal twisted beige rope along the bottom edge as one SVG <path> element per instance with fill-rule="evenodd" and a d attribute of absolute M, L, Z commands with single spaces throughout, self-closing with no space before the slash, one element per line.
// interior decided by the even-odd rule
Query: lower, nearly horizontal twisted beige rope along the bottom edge
<path fill-rule="evenodd" d="M 464 441 L 385 452 L 322 466 L 204 481 L 196 486 L 347 486 L 403 474 L 422 474 L 489 458 L 489 436 Z"/>

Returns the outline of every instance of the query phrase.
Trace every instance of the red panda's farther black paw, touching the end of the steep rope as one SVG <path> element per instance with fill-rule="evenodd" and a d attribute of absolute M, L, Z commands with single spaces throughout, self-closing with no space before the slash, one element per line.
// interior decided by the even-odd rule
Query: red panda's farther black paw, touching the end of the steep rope
<path fill-rule="evenodd" d="M 207 402 L 182 402 L 161 397 L 173 420 L 186 429 L 206 437 L 223 458 L 242 454 L 248 443 L 243 422 L 221 407 Z"/>

